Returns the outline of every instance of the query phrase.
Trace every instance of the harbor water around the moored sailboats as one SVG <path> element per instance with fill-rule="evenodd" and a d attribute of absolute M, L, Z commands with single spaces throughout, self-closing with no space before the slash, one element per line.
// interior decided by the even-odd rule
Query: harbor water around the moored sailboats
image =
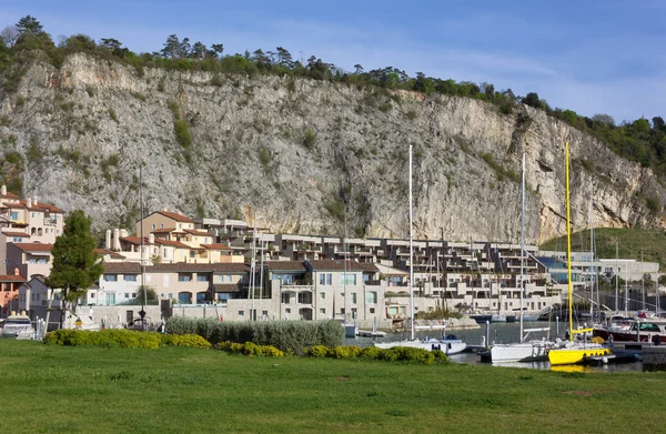
<path fill-rule="evenodd" d="M 487 327 L 487 332 L 486 332 Z M 554 323 L 554 322 L 526 322 L 524 323 L 524 329 L 548 329 L 549 332 L 532 332 L 528 335 L 528 339 L 549 339 L 555 340 L 555 337 L 564 339 L 564 333 L 566 332 L 565 323 Z M 519 341 L 519 324 L 516 323 L 490 323 L 487 325 L 481 325 L 480 329 L 467 329 L 467 330 L 447 330 L 445 333 L 455 334 L 457 337 L 462 339 L 471 346 L 482 346 L 484 345 L 486 334 L 488 336 L 488 342 L 492 343 L 514 343 Z M 416 337 L 441 337 L 441 334 L 437 331 L 427 331 L 427 332 L 417 332 Z M 392 341 L 401 341 L 410 339 L 410 332 L 401 332 L 401 333 L 387 333 L 385 337 L 382 339 L 372 339 L 372 337 L 350 337 L 346 339 L 346 345 L 356 345 L 356 346 L 369 346 L 372 345 L 373 342 L 392 342 Z M 523 369 L 533 369 L 533 370 L 551 370 L 551 364 L 548 362 L 531 362 L 531 363 L 502 363 L 502 364 L 490 364 L 482 363 L 481 356 L 473 352 L 465 352 L 461 354 L 451 355 L 451 361 L 455 363 L 466 363 L 466 364 L 480 364 L 484 366 L 509 366 L 509 367 L 523 367 Z M 576 372 L 630 372 L 630 371 L 643 371 L 643 363 L 639 361 L 630 362 L 630 363 L 609 363 L 602 365 L 576 365 L 572 366 L 557 366 L 554 370 L 563 370 L 571 371 L 575 370 Z"/>

